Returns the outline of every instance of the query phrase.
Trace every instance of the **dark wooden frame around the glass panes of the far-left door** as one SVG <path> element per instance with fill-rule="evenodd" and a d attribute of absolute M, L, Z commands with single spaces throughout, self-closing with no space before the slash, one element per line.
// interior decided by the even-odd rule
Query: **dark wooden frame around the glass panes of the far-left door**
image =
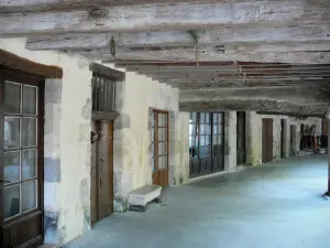
<path fill-rule="evenodd" d="M 37 150 L 37 207 L 35 209 L 28 211 L 26 213 L 21 213 L 19 216 L 11 217 L 4 220 L 3 216 L 3 205 L 0 204 L 0 241 L 4 241 L 4 228 L 18 229 L 20 223 L 30 220 L 31 218 L 40 215 L 38 228 L 40 235 L 31 240 L 26 240 L 23 244 L 18 245 L 19 247 L 24 246 L 24 248 L 34 247 L 36 245 L 42 245 L 44 241 L 44 90 L 45 90 L 45 78 L 37 75 L 32 75 L 24 73 L 22 71 L 16 71 L 9 68 L 7 66 L 0 65 L 0 129 L 4 129 L 4 82 L 13 82 L 21 85 L 32 85 L 37 87 L 37 138 L 36 138 L 36 150 Z M 19 115 L 22 116 L 22 115 Z M 1 161 L 4 160 L 4 133 L 0 132 L 0 180 L 4 179 L 4 166 L 1 168 Z M 21 148 L 20 148 L 21 149 Z M 3 164 L 3 163 L 2 163 Z M 4 183 L 0 183 L 0 198 L 4 197 Z M 2 202 L 2 201 L 1 201 Z M 20 203 L 21 205 L 21 203 Z"/>

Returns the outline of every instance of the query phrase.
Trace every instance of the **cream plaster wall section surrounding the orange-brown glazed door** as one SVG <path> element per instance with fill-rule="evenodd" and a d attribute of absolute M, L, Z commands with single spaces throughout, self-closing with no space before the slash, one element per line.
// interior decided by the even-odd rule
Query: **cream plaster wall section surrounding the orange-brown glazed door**
<path fill-rule="evenodd" d="M 114 209 L 127 211 L 127 195 L 152 183 L 152 111 L 169 114 L 169 184 L 189 181 L 189 115 L 178 111 L 178 89 L 128 72 L 118 84 L 114 121 Z"/>

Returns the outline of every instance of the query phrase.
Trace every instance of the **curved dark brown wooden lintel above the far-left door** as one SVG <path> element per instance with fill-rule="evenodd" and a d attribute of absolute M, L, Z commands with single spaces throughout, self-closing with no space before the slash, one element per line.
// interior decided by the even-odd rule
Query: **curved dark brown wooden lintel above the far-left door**
<path fill-rule="evenodd" d="M 18 69 L 43 78 L 62 78 L 63 69 L 54 65 L 44 65 L 20 57 L 0 48 L 0 65 Z"/>

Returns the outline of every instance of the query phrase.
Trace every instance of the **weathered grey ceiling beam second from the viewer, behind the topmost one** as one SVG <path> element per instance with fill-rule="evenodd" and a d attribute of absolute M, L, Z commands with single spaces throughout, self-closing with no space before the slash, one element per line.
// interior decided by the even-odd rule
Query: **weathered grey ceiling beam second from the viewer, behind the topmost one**
<path fill-rule="evenodd" d="M 198 44 L 202 50 L 219 50 L 224 45 L 227 51 L 248 50 L 249 52 L 276 51 L 323 51 L 329 50 L 330 26 L 244 26 L 212 28 L 200 34 Z M 140 33 L 76 33 L 34 35 L 26 42 L 29 50 L 81 50 L 100 47 L 109 48 L 113 37 L 116 47 L 128 51 L 143 50 L 194 50 L 194 40 L 186 31 L 160 31 Z M 99 44 L 98 46 L 96 46 Z"/>

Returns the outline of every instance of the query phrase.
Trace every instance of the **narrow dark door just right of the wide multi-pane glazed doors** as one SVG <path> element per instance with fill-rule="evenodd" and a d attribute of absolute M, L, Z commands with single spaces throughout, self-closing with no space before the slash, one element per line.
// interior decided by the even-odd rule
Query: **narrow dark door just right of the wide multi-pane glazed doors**
<path fill-rule="evenodd" d="M 237 114 L 237 163 L 244 164 L 245 155 L 245 112 L 239 111 Z"/>

